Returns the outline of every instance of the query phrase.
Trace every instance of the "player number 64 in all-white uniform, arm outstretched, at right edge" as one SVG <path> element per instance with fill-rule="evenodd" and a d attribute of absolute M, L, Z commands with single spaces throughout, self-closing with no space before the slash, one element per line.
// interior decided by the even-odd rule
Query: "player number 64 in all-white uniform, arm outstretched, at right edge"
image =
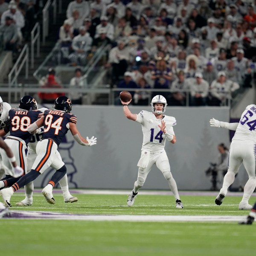
<path fill-rule="evenodd" d="M 212 118 L 210 119 L 210 125 L 236 131 L 230 145 L 228 171 L 224 177 L 222 188 L 215 199 L 215 204 L 222 204 L 224 197 L 227 195 L 227 189 L 233 184 L 235 175 L 243 163 L 249 179 L 244 186 L 244 195 L 239 204 L 239 209 L 252 209 L 248 201 L 256 187 L 256 105 L 248 105 L 245 108 L 239 123 L 220 122 Z"/>

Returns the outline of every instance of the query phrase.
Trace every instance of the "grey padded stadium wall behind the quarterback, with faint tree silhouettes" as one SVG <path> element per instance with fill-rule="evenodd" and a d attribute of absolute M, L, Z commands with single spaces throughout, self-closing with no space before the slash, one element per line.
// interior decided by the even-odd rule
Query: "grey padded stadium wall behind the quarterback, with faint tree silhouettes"
<path fill-rule="evenodd" d="M 46 106 L 47 107 L 47 106 Z M 52 106 L 48 106 L 52 109 Z M 151 107 L 130 107 L 132 113 Z M 83 137 L 97 137 L 97 145 L 80 146 L 70 131 L 59 146 L 67 165 L 70 188 L 131 189 L 137 179 L 137 162 L 143 141 L 141 125 L 125 118 L 122 106 L 73 106 L 77 127 Z M 174 116 L 176 144 L 166 142 L 166 152 L 178 189 L 203 190 L 211 186 L 205 170 L 218 160 L 217 146 L 230 145 L 229 131 L 212 128 L 209 119 L 230 120 L 229 108 L 167 107 Z M 53 173 L 48 169 L 35 180 L 44 187 Z M 154 166 L 143 189 L 169 189 L 162 173 Z"/>

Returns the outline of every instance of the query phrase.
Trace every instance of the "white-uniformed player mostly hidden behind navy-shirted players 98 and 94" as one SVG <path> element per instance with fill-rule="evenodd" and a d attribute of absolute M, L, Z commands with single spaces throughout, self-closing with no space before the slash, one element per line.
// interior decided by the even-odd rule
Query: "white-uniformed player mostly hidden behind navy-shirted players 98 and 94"
<path fill-rule="evenodd" d="M 47 110 L 47 108 L 40 108 L 39 110 L 44 113 L 44 111 Z M 44 132 L 44 127 L 38 128 L 37 133 L 33 134 L 32 138 L 28 144 L 28 152 L 27 152 L 27 156 L 26 156 L 27 163 L 28 163 L 28 167 L 27 167 L 28 171 L 27 172 L 30 172 L 30 170 L 32 169 L 33 163 L 35 162 L 35 159 L 37 157 L 36 145 L 38 144 L 38 141 L 41 139 L 43 132 Z M 61 158 L 58 150 L 56 151 L 56 155 L 58 155 L 58 157 Z M 78 201 L 78 199 L 76 197 L 73 197 L 69 192 L 68 182 L 67 182 L 67 174 L 65 174 L 64 177 L 61 178 L 61 180 L 59 180 L 59 184 L 60 184 L 61 190 L 63 192 L 63 198 L 64 198 L 65 203 L 68 203 L 68 202 L 73 203 L 73 202 Z M 33 181 L 26 184 L 24 186 L 24 189 L 25 189 L 26 198 L 20 202 L 17 202 L 16 205 L 32 205 L 33 190 L 34 190 Z"/>

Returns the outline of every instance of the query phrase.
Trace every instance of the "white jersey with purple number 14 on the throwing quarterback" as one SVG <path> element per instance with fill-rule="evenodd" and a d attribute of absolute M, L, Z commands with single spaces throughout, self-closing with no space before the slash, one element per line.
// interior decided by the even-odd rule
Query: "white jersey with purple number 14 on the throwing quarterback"
<path fill-rule="evenodd" d="M 166 136 L 158 127 L 158 125 L 161 125 L 161 120 L 165 121 L 168 133 L 174 135 L 172 126 L 177 123 L 175 117 L 164 115 L 163 119 L 157 119 L 152 112 L 148 111 L 141 111 L 137 115 L 136 122 L 142 125 L 142 150 L 164 151 Z"/>

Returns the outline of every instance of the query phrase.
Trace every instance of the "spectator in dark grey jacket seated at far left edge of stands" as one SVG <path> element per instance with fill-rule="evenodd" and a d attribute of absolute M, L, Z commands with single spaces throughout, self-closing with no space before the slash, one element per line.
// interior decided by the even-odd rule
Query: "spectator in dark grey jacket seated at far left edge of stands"
<path fill-rule="evenodd" d="M 15 52 L 18 39 L 17 26 L 12 17 L 5 17 L 5 24 L 0 26 L 0 38 L 3 40 L 3 49 Z"/>

